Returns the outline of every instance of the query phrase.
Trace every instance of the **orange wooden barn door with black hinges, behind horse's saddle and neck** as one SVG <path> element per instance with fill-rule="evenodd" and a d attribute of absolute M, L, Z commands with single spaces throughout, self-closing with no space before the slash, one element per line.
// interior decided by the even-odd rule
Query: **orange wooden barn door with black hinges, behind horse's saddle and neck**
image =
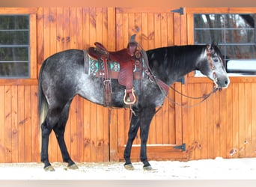
<path fill-rule="evenodd" d="M 147 49 L 162 46 L 186 44 L 186 17 L 171 13 L 171 8 L 117 8 L 116 9 L 117 50 L 127 47 L 129 37 L 136 34 L 136 41 Z M 180 82 L 174 88 L 181 91 Z M 180 95 L 170 89 L 169 97 L 181 102 Z M 113 109 L 110 123 L 110 159 L 122 160 L 129 130 L 129 109 Z M 148 159 L 186 159 L 181 148 L 182 110 L 165 99 L 165 103 L 153 117 L 147 144 Z M 185 148 L 185 147 L 183 147 Z M 118 151 L 118 153 L 117 153 Z M 139 132 L 132 147 L 132 160 L 139 159 Z"/>

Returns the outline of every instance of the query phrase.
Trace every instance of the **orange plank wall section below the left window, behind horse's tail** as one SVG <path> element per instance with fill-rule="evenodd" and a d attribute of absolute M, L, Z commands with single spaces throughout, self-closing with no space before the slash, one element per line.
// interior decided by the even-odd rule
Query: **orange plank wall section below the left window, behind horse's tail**
<path fill-rule="evenodd" d="M 37 85 L 1 85 L 0 103 L 0 162 L 37 162 Z"/>

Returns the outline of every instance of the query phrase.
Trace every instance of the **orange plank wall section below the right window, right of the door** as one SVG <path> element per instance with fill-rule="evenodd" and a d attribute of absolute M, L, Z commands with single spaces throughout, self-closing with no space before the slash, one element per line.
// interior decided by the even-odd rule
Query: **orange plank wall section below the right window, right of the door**
<path fill-rule="evenodd" d="M 253 82 L 235 82 L 214 93 L 195 108 L 184 108 L 183 141 L 189 159 L 243 158 L 256 156 L 255 87 Z M 211 83 L 191 83 L 186 93 L 201 96 Z M 198 101 L 186 99 L 189 105 Z"/>

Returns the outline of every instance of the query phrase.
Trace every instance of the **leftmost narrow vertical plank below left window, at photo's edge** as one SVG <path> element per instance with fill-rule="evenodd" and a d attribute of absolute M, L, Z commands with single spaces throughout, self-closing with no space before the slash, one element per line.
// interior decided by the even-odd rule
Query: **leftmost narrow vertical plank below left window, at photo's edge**
<path fill-rule="evenodd" d="M 5 162 L 5 89 L 0 86 L 0 103 L 2 105 L 0 110 L 0 162 Z"/>

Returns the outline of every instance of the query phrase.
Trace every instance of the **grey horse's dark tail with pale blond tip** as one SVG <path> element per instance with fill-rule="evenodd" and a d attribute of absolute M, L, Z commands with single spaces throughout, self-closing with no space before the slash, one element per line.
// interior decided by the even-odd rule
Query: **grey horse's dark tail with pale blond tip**
<path fill-rule="evenodd" d="M 46 114 L 48 111 L 48 103 L 46 101 L 46 96 L 42 90 L 42 73 L 43 69 L 46 65 L 46 61 L 43 61 L 42 67 L 40 69 L 39 78 L 38 78 L 38 116 L 40 125 L 43 123 L 43 120 L 46 118 Z"/>

